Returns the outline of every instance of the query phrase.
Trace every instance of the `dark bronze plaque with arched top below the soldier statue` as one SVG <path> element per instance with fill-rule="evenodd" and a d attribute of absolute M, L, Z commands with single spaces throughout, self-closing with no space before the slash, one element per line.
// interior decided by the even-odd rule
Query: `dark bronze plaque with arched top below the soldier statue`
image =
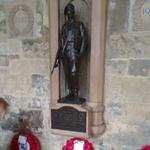
<path fill-rule="evenodd" d="M 51 110 L 52 129 L 86 132 L 86 112 L 64 106 Z"/>

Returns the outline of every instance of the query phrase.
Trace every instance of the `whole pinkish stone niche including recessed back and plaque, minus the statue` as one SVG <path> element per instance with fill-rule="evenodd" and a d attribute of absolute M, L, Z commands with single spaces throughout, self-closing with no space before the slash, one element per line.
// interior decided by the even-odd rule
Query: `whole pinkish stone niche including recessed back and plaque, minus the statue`
<path fill-rule="evenodd" d="M 59 31 L 64 23 L 64 8 L 68 2 L 69 0 L 49 1 L 51 69 L 58 49 Z M 69 136 L 98 136 L 105 130 L 103 93 L 107 2 L 74 0 L 72 3 L 75 6 L 77 20 L 84 22 L 88 32 L 88 52 L 79 73 L 79 95 L 86 98 L 86 103 L 81 105 L 58 103 L 60 95 L 66 95 L 67 91 L 64 88 L 63 72 L 56 68 L 50 77 L 51 131 L 54 134 Z"/>

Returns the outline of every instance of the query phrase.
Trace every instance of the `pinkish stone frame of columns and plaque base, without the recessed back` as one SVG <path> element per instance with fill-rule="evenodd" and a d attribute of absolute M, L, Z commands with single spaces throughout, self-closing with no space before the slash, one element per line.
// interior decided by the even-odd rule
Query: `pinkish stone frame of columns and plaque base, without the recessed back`
<path fill-rule="evenodd" d="M 99 136 L 105 130 L 104 124 L 104 54 L 107 0 L 89 0 L 91 8 L 91 38 L 90 55 L 88 59 L 89 71 L 86 88 L 85 105 L 58 103 L 60 98 L 60 73 L 56 68 L 51 76 L 51 131 L 54 134 L 69 136 Z M 52 69 L 58 49 L 59 35 L 59 3 L 60 0 L 49 0 L 50 21 L 50 65 Z M 84 17 L 84 16 L 83 16 Z M 89 16 L 85 16 L 89 17 Z M 85 84 L 83 84 L 84 86 Z M 61 95 L 62 96 L 62 95 Z M 63 114 L 62 114 L 63 112 Z M 65 113 L 64 113 L 65 112 Z M 78 124 L 78 119 L 80 120 Z M 76 121 L 74 122 L 75 117 Z M 59 119 L 58 119 L 58 118 Z M 63 122 L 63 119 L 65 122 Z M 71 126 L 71 123 L 74 123 Z M 63 124 L 65 123 L 65 124 Z M 81 124 L 82 125 L 81 125 Z M 60 125 L 61 124 L 61 125 Z M 58 125 L 58 126 L 57 126 Z M 78 126 L 77 126 L 78 125 Z M 81 126 L 82 128 L 80 128 Z M 79 127 L 79 128 L 77 128 Z"/>

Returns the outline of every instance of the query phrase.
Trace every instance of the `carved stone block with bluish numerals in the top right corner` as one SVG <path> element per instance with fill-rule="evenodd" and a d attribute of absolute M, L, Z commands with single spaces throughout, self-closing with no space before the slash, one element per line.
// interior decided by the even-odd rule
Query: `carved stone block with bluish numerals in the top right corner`
<path fill-rule="evenodd" d="M 135 0 L 132 9 L 133 31 L 150 31 L 149 0 Z"/>

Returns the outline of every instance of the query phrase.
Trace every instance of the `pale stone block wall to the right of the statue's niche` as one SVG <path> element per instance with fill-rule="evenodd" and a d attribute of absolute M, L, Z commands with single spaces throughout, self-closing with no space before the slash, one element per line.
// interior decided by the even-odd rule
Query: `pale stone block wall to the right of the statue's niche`
<path fill-rule="evenodd" d="M 103 144 L 137 150 L 150 141 L 148 0 L 109 0 Z"/>

